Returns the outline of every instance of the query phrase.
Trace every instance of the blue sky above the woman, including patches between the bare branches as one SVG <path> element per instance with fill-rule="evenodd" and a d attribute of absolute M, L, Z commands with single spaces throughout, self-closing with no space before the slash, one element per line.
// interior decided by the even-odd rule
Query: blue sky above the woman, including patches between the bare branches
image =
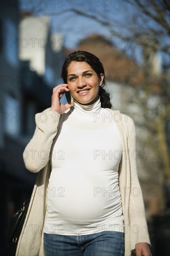
<path fill-rule="evenodd" d="M 154 9 L 147 5 L 148 1 L 144 0 L 147 10 L 154 13 Z M 145 21 L 141 13 L 141 9 L 134 0 L 127 4 L 125 0 L 19 0 L 20 11 L 30 11 L 34 15 L 50 15 L 50 32 L 60 33 L 64 39 L 64 46 L 69 49 L 74 49 L 78 42 L 91 34 L 104 35 L 105 38 L 116 42 L 118 36 L 113 36 L 106 26 L 102 26 L 97 21 L 77 15 L 70 11 L 74 8 L 78 11 L 89 15 L 92 14 L 100 20 L 109 21 L 112 24 L 113 30 L 117 33 L 121 31 L 124 38 L 131 37 L 131 30 L 135 28 L 136 21 L 141 22 L 140 31 L 147 31 L 150 27 L 157 28 L 158 34 L 161 27 L 145 17 Z M 135 18 L 136 17 L 136 18 Z M 131 27 L 131 29 L 129 29 Z M 138 29 L 138 27 L 137 27 Z M 160 29 L 160 30 L 159 30 Z M 143 33 L 143 32 L 142 32 Z M 165 38 L 160 35 L 160 44 L 169 42 L 169 37 Z M 148 35 L 147 35 L 148 36 Z M 152 35 L 149 35 L 153 37 Z M 118 50 L 124 50 L 127 55 L 133 56 L 138 64 L 142 63 L 141 47 L 137 47 L 137 39 L 129 41 L 131 47 L 126 47 L 125 40 L 117 40 L 120 45 L 113 44 Z M 153 38 L 153 44 L 154 44 Z M 158 53 L 160 55 L 160 53 Z M 165 54 L 166 55 L 166 54 Z M 161 53 L 161 59 L 165 62 L 169 61 L 167 56 Z"/>

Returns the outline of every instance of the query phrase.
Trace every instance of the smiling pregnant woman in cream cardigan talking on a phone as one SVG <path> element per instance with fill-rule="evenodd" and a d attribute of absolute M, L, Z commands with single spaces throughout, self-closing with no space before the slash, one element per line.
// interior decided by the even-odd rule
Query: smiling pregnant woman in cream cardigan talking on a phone
<path fill-rule="evenodd" d="M 53 89 L 51 108 L 36 114 L 24 151 L 39 172 L 16 255 L 151 256 L 137 178 L 134 123 L 111 110 L 99 59 L 74 52 Z M 70 92 L 65 105 L 61 97 Z"/>

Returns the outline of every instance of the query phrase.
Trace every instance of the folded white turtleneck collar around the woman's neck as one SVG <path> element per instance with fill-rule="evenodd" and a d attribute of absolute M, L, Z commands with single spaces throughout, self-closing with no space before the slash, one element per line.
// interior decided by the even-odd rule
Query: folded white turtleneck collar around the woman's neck
<path fill-rule="evenodd" d="M 74 110 L 73 113 L 83 118 L 94 117 L 94 113 L 99 113 L 101 110 L 100 97 L 98 100 L 91 105 L 82 105 L 74 99 Z"/>

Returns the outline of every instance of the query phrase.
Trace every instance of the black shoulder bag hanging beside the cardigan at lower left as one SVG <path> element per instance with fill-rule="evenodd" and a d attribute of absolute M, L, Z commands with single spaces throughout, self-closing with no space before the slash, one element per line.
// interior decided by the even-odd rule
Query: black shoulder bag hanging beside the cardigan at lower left
<path fill-rule="evenodd" d="M 26 213 L 28 211 L 29 202 L 30 202 L 30 200 L 26 200 L 23 203 L 22 208 L 20 210 L 18 210 L 11 217 L 11 220 L 10 220 L 7 242 L 10 244 L 13 255 L 15 255 L 15 253 L 16 253 L 18 240 L 20 238 L 22 227 L 24 225 Z"/>

